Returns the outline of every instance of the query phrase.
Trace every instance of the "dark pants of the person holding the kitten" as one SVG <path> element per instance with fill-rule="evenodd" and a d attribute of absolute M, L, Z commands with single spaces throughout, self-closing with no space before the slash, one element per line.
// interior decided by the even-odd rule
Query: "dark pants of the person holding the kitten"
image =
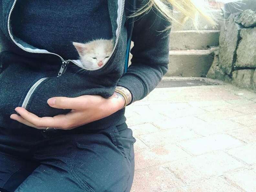
<path fill-rule="evenodd" d="M 87 133 L 0 129 L 0 188 L 16 192 L 131 189 L 135 139 L 125 123 Z"/>

